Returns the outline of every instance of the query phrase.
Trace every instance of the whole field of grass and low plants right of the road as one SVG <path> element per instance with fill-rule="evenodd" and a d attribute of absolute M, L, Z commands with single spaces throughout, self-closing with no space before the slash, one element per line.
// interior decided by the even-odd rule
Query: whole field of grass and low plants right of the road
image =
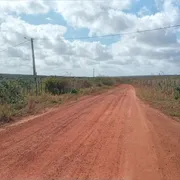
<path fill-rule="evenodd" d="M 180 120 L 180 77 L 157 76 L 132 80 L 137 95 L 153 107 Z"/>

